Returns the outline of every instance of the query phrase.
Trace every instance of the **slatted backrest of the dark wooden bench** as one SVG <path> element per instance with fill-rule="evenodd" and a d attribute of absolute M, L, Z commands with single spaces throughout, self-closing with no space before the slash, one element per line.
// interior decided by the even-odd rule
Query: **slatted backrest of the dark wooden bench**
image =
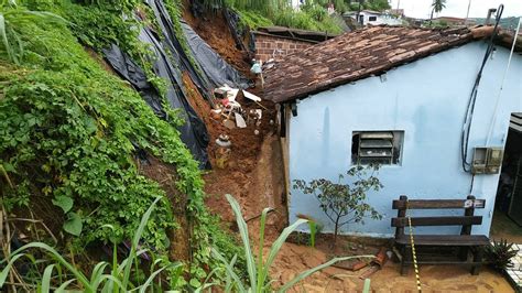
<path fill-rule="evenodd" d="M 398 209 L 396 218 L 391 219 L 395 227 L 395 236 L 404 234 L 404 227 L 410 223 L 406 209 L 464 209 L 464 216 L 441 217 L 411 217 L 412 226 L 463 226 L 460 235 L 470 235 L 472 225 L 482 224 L 482 216 L 474 216 L 476 208 L 485 208 L 485 199 L 476 199 L 469 195 L 466 199 L 412 199 L 402 195 L 399 200 L 393 200 L 393 209 Z"/>

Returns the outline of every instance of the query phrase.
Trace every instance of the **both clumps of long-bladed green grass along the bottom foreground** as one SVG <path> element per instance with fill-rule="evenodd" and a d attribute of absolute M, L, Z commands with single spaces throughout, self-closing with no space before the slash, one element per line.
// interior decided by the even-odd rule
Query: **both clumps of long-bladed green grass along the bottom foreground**
<path fill-rule="evenodd" d="M 109 263 L 107 261 L 101 261 L 96 263 L 90 270 L 90 278 L 88 278 L 81 270 L 76 268 L 74 263 L 67 261 L 62 254 L 56 251 L 54 248 L 50 247 L 43 242 L 31 242 L 25 245 L 15 251 L 12 252 L 12 256 L 8 259 L 0 261 L 0 264 L 3 265 L 2 271 L 0 272 L 0 287 L 7 285 L 6 281 L 11 272 L 11 270 L 15 267 L 15 262 L 22 259 L 28 259 L 31 261 L 32 265 L 39 267 L 36 273 L 39 278 L 35 279 L 35 283 L 23 284 L 25 287 L 37 287 L 39 292 L 50 292 L 53 290 L 54 292 L 69 292 L 70 290 L 81 290 L 83 292 L 91 293 L 91 292 L 129 292 L 129 291 L 139 291 L 139 292 L 146 292 L 149 289 L 151 292 L 162 292 L 165 289 L 168 291 L 173 291 L 180 289 L 180 284 L 183 283 L 183 265 L 181 262 L 172 263 L 170 261 L 165 261 L 164 259 L 157 259 L 153 261 L 153 264 L 150 265 L 150 271 L 148 273 L 143 273 L 140 271 L 139 268 L 142 267 L 140 263 L 140 257 L 144 253 L 150 252 L 150 250 L 143 250 L 140 248 L 140 239 L 142 234 L 145 229 L 145 226 L 149 223 L 149 219 L 155 208 L 155 205 L 161 200 L 161 197 L 155 198 L 155 200 L 151 204 L 149 209 L 143 214 L 141 218 L 140 226 L 134 231 L 132 237 L 132 246 L 129 252 L 129 256 L 122 260 L 121 262 L 118 261 L 118 249 L 116 242 L 113 243 L 112 249 L 112 262 Z M 261 230 L 260 230 L 260 249 L 259 254 L 255 257 L 252 253 L 251 246 L 250 246 L 250 238 L 248 234 L 247 223 L 244 221 L 241 209 L 239 204 L 233 199 L 231 195 L 227 195 L 227 199 L 232 206 L 233 213 L 236 215 L 236 221 L 238 224 L 241 239 L 243 241 L 244 247 L 244 258 L 247 259 L 248 263 L 248 281 L 244 280 L 236 273 L 235 263 L 238 260 L 237 254 L 231 258 L 231 260 L 227 260 L 217 248 L 213 248 L 211 252 L 213 256 L 216 257 L 219 261 L 222 261 L 225 265 L 225 274 L 226 274 L 226 283 L 224 284 L 222 289 L 225 292 L 255 292 L 255 293 L 264 293 L 264 292 L 273 292 L 271 287 L 271 282 L 268 281 L 269 270 L 278 256 L 279 250 L 281 249 L 282 245 L 289 237 L 291 232 L 297 228 L 297 226 L 306 223 L 305 219 L 300 219 L 292 226 L 285 228 L 278 240 L 272 245 L 267 261 L 263 260 L 263 243 L 264 243 L 264 225 L 267 223 L 267 215 L 269 208 L 265 208 L 261 216 Z M 112 226 L 107 225 L 107 228 L 111 228 Z M 36 251 L 40 250 L 40 251 Z M 25 252 L 28 251 L 28 252 Z M 36 259 L 36 252 L 45 252 L 48 254 L 48 261 L 46 259 Z M 278 292 L 286 292 L 289 289 L 304 280 L 305 278 L 309 276 L 311 274 L 323 270 L 325 268 L 330 267 L 331 264 L 344 261 L 344 260 L 351 260 L 351 259 L 361 259 L 361 258 L 374 258 L 373 256 L 358 256 L 358 257 L 345 257 L 345 258 L 335 258 L 330 261 L 323 263 L 318 267 L 309 269 L 300 273 L 290 282 L 285 283 L 281 286 Z M 48 263 L 48 264 L 47 264 Z M 56 270 L 55 276 L 53 276 L 53 271 Z M 41 273 L 43 271 L 43 273 Z M 216 273 L 218 269 L 215 269 L 209 278 Z M 168 272 L 167 274 L 167 283 L 162 282 L 161 273 Z M 141 278 L 132 278 L 133 275 L 141 275 Z M 137 279 L 137 280 L 134 280 Z M 208 279 L 205 283 L 197 285 L 195 287 L 195 292 L 202 292 L 206 289 L 209 289 L 216 283 L 208 283 Z M 175 291 L 178 292 L 178 291 Z M 370 280 L 367 279 L 365 281 L 365 293 L 370 292 Z"/>

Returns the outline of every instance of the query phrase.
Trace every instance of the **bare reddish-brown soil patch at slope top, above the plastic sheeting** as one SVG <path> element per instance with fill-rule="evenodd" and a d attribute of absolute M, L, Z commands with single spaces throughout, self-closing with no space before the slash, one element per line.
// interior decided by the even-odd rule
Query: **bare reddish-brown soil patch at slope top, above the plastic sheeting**
<path fill-rule="evenodd" d="M 183 19 L 196 33 L 210 45 L 225 61 L 236 69 L 250 76 L 250 61 L 247 52 L 236 47 L 230 29 L 221 12 L 207 13 L 203 18 L 194 18 L 191 12 L 191 1 L 183 0 Z"/>

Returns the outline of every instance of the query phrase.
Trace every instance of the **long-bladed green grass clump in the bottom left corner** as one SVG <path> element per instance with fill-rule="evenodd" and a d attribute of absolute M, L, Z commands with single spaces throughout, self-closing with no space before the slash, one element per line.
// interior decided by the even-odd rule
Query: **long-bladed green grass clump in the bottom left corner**
<path fill-rule="evenodd" d="M 139 290 L 139 292 L 145 292 L 149 287 L 152 290 L 161 290 L 162 282 L 159 278 L 163 271 L 168 272 L 168 283 L 172 287 L 178 287 L 182 283 L 183 264 L 181 262 L 170 262 L 162 259 L 157 259 L 151 265 L 151 271 L 148 273 L 146 279 L 139 280 L 139 283 L 133 283 L 131 275 L 140 274 L 138 270 L 140 257 L 150 251 L 139 250 L 139 243 L 141 236 L 145 229 L 145 225 L 151 217 L 156 203 L 161 199 L 157 197 L 149 209 L 143 215 L 140 226 L 135 230 L 132 238 L 132 246 L 129 256 L 118 261 L 118 247 L 117 243 L 112 243 L 112 263 L 101 261 L 96 263 L 91 270 L 90 278 L 84 274 L 81 270 L 76 268 L 74 263 L 68 262 L 62 254 L 54 248 L 43 242 L 31 242 L 25 245 L 15 251 L 9 259 L 0 262 L 3 264 L 3 270 L 0 272 L 0 287 L 7 287 L 6 280 L 9 272 L 14 267 L 18 260 L 28 259 L 35 265 L 35 272 L 39 274 L 36 284 L 24 284 L 30 287 L 39 287 L 40 292 L 69 292 L 70 290 L 81 290 L 83 292 L 129 292 L 130 290 Z M 106 226 L 106 228 L 113 228 L 113 226 Z M 47 260 L 36 258 L 31 253 L 32 250 L 39 249 L 46 254 L 51 261 L 46 264 Z M 25 252 L 28 251 L 28 252 Z M 45 267 L 44 267 L 45 265 Z M 155 269 L 155 267 L 159 267 Z M 45 268 L 45 269 L 44 269 Z M 41 273 L 43 271 L 43 274 Z M 53 272 L 56 271 L 56 276 L 53 276 Z"/>

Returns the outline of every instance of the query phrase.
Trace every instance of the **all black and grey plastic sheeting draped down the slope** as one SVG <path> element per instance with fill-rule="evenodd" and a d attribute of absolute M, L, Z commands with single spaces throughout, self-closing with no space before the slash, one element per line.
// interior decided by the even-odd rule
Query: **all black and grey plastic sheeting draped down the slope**
<path fill-rule="evenodd" d="M 144 0 L 154 12 L 159 32 L 150 26 L 141 29 L 139 40 L 149 44 L 153 55 L 154 73 L 167 80 L 166 98 L 174 109 L 182 109 L 185 123 L 180 128 L 181 139 L 199 161 L 200 167 L 209 167 L 207 146 L 209 135 L 205 123 L 197 117 L 187 101 L 183 86 L 182 72 L 186 72 L 198 91 L 211 104 L 211 90 L 227 84 L 236 88 L 247 88 L 249 80 L 225 62 L 208 46 L 186 23 L 182 23 L 188 41 L 191 53 L 195 57 L 203 74 L 189 62 L 183 46 L 174 32 L 174 24 L 163 0 Z M 161 35 L 161 37 L 160 37 Z M 117 45 L 104 51 L 105 57 L 122 78 L 128 80 L 149 104 L 153 111 L 165 119 L 166 113 L 157 89 L 146 79 L 145 73 Z"/>

